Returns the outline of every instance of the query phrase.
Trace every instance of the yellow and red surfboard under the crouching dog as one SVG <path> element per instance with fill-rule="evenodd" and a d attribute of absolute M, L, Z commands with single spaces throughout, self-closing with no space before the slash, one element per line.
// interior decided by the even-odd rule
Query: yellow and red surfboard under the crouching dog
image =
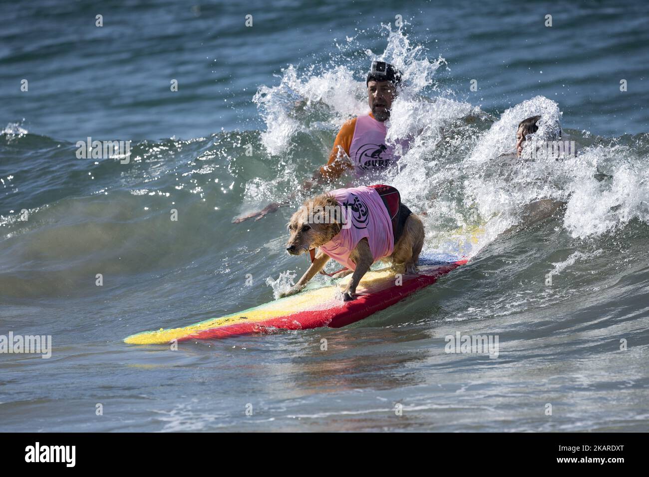
<path fill-rule="evenodd" d="M 417 275 L 395 275 L 391 268 L 365 273 L 356 289 L 357 297 L 343 301 L 351 275 L 333 285 L 302 290 L 299 294 L 249 308 L 242 312 L 211 318 L 180 328 L 132 334 L 125 343 L 165 344 L 173 340 L 209 340 L 242 334 L 272 333 L 318 327 L 339 328 L 391 307 L 417 290 L 432 285 L 442 275 L 467 261 L 452 255 L 428 253 L 419 257 Z"/>

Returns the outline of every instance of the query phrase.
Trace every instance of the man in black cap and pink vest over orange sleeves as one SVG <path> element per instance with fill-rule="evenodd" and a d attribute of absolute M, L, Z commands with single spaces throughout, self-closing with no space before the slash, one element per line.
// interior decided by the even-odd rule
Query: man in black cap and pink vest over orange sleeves
<path fill-rule="evenodd" d="M 340 128 L 334 142 L 329 160 L 306 181 L 303 189 L 310 189 L 315 183 L 332 181 L 342 176 L 347 170 L 354 171 L 356 178 L 369 172 L 386 169 L 395 163 L 392 148 L 386 145 L 386 121 L 390 118 L 392 102 L 397 97 L 397 86 L 401 82 L 401 73 L 386 62 L 372 62 L 372 67 L 365 80 L 367 97 L 371 112 L 345 122 Z M 259 220 L 275 212 L 282 205 L 273 202 L 261 211 L 235 218 L 238 224 L 249 218 Z"/>

